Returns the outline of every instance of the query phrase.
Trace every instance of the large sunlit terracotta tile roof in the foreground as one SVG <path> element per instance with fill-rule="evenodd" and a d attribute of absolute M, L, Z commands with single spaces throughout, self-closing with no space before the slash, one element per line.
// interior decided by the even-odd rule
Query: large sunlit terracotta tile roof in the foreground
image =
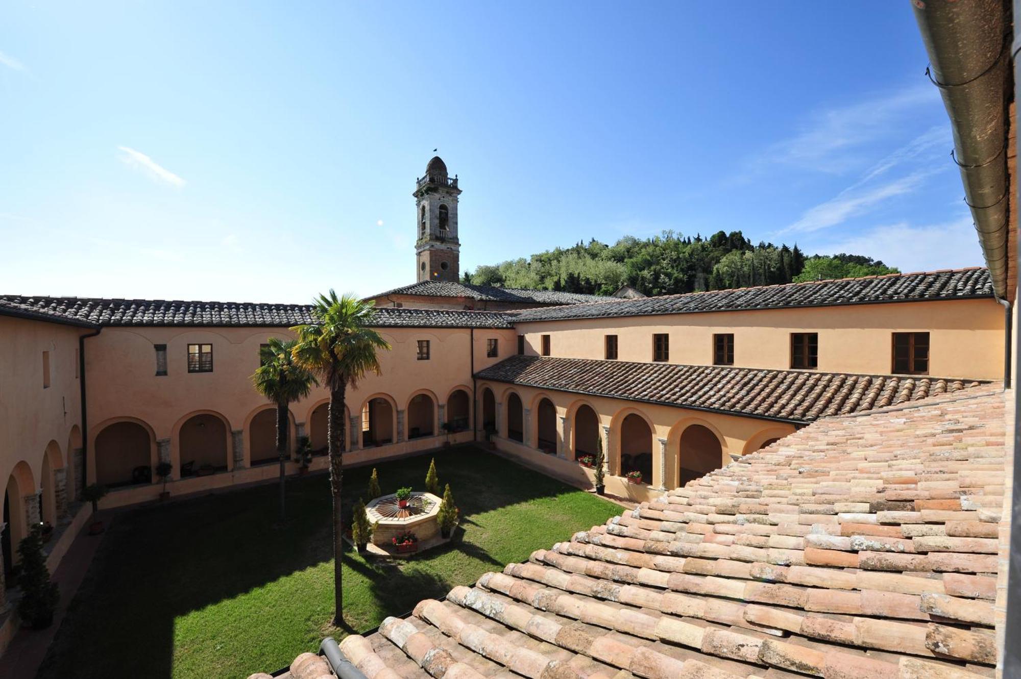
<path fill-rule="evenodd" d="M 1005 437 L 990 387 L 823 420 L 340 647 L 368 679 L 990 677 Z"/>

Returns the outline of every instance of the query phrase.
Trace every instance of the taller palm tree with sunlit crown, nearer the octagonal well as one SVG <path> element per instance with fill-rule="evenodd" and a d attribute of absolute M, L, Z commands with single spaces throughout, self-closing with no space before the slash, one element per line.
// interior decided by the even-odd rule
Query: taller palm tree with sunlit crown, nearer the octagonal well
<path fill-rule="evenodd" d="M 376 313 L 372 302 L 362 302 L 352 295 L 340 299 L 330 291 L 320 295 L 312 306 L 317 322 L 297 325 L 298 344 L 294 359 L 318 374 L 330 389 L 330 491 L 333 494 L 333 624 L 344 623 L 341 590 L 341 555 L 344 550 L 343 524 L 340 516 L 341 449 L 344 440 L 344 396 L 348 385 L 356 388 L 368 372 L 380 374 L 377 350 L 389 350 L 376 330 L 369 326 Z"/>

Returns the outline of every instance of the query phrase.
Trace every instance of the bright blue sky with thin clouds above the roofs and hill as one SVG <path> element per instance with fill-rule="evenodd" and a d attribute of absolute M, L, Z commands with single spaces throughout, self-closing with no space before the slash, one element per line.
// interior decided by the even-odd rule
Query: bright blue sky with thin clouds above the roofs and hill
<path fill-rule="evenodd" d="M 306 302 L 415 277 L 415 179 L 461 268 L 741 229 L 981 264 L 906 0 L 8 2 L 0 292 Z"/>

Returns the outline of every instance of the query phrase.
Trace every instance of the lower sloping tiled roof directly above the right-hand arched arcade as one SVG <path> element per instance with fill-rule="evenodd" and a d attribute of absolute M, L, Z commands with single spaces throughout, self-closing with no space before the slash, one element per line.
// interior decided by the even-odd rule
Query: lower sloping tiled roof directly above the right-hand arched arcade
<path fill-rule="evenodd" d="M 512 356 L 476 373 L 510 382 L 629 401 L 811 422 L 957 391 L 978 380 L 761 370 L 714 365 L 630 363 Z"/>

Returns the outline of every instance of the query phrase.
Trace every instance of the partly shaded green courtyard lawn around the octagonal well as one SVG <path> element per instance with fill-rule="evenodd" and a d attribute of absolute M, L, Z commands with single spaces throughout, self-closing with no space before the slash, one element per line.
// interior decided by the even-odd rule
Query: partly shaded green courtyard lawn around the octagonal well
<path fill-rule="evenodd" d="M 383 492 L 424 489 L 431 457 L 377 465 Z M 455 540 L 408 561 L 345 553 L 352 629 L 369 630 L 621 512 L 472 446 L 435 458 L 461 510 Z M 371 471 L 344 472 L 348 507 Z M 327 634 L 339 638 L 329 625 L 329 480 L 288 479 L 283 526 L 277 492 L 263 485 L 117 516 L 39 677 L 246 677 L 288 665 Z"/>

